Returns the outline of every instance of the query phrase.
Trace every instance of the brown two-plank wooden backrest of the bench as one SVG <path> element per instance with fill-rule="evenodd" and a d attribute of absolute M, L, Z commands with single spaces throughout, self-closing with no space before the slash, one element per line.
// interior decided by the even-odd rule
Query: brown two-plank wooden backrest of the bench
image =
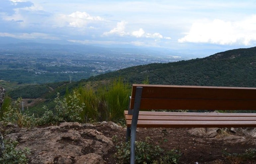
<path fill-rule="evenodd" d="M 142 87 L 142 110 L 256 110 L 256 88 L 133 84 L 130 109 L 136 87 Z"/>

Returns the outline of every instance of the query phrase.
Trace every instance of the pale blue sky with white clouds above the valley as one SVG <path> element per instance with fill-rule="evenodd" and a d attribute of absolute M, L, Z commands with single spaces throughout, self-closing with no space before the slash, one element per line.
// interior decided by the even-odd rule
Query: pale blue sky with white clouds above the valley
<path fill-rule="evenodd" d="M 255 46 L 256 1 L 0 0 L 0 37 L 218 52 Z"/>

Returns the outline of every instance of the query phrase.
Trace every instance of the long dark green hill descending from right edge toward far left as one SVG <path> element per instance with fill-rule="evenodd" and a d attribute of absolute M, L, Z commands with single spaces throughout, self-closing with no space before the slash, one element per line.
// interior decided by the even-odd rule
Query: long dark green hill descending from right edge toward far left
<path fill-rule="evenodd" d="M 256 47 L 228 50 L 187 61 L 139 65 L 71 84 L 15 86 L 8 94 L 13 99 L 43 98 L 47 102 L 55 98 L 57 92 L 64 95 L 66 89 L 71 91 L 88 84 L 95 86 L 119 77 L 130 84 L 148 79 L 150 84 L 256 87 Z"/>

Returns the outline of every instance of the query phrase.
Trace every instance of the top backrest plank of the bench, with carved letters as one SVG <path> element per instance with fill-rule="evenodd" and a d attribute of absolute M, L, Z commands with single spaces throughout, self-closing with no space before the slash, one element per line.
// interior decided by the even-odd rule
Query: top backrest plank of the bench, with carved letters
<path fill-rule="evenodd" d="M 255 99 L 256 88 L 246 87 L 210 87 L 176 85 L 132 85 L 132 98 L 136 87 L 143 87 L 142 98 L 161 99 Z"/>

